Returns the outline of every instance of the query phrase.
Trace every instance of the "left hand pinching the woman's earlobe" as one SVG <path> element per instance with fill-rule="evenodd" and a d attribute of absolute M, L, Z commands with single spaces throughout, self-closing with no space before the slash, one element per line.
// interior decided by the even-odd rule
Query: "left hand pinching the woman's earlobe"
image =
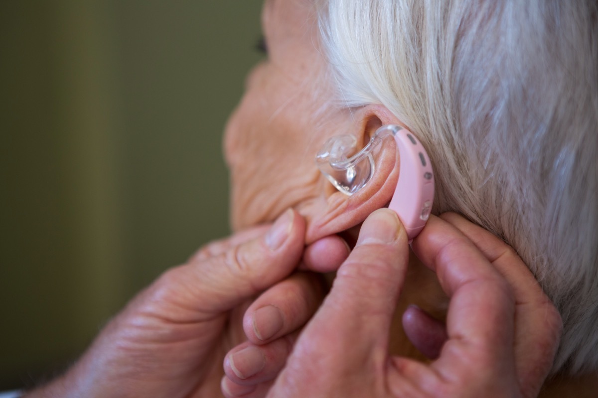
<path fill-rule="evenodd" d="M 252 307 L 266 308 L 252 325 L 263 338 L 292 333 L 319 306 L 313 274 L 289 277 L 301 263 L 304 232 L 303 218 L 289 210 L 270 229 L 206 246 L 141 292 L 72 369 L 30 396 L 218 396 L 224 354 L 245 340 L 237 322 L 245 301 L 274 285 Z M 338 267 L 348 252 L 340 238 L 326 237 L 307 248 L 304 267 Z M 294 296 L 275 294 L 281 288 Z"/>

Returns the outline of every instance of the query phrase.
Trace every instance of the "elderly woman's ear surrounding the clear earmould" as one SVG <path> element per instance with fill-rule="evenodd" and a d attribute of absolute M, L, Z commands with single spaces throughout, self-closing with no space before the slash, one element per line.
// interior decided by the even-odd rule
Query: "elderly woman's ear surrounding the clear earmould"
<path fill-rule="evenodd" d="M 356 122 L 350 134 L 364 144 L 382 125 L 402 125 L 396 116 L 381 105 L 362 107 L 353 116 Z M 349 230 L 361 224 L 374 210 L 388 205 L 399 175 L 398 161 L 396 144 L 393 140 L 384 140 L 375 158 L 374 173 L 370 181 L 351 196 L 338 192 L 322 177 L 322 191 L 326 201 L 310 217 L 306 242 L 312 243 L 321 237 Z"/>

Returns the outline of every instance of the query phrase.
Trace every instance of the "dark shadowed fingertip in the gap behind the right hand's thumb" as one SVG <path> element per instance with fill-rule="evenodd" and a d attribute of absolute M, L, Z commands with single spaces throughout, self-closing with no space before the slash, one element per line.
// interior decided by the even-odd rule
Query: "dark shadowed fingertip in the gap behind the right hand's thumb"
<path fill-rule="evenodd" d="M 434 319 L 416 306 L 409 306 L 402 317 L 409 341 L 426 357 L 436 359 L 448 339 L 444 322 Z"/>

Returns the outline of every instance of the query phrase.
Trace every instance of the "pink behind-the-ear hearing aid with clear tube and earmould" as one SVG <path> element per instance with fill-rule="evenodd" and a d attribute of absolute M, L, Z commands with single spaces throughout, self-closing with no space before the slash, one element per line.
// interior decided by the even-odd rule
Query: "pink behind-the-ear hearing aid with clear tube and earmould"
<path fill-rule="evenodd" d="M 434 172 L 428 153 L 410 131 L 398 125 L 384 125 L 353 156 L 349 155 L 355 152 L 355 137 L 332 137 L 316 155 L 316 164 L 336 189 L 353 195 L 371 180 L 376 168 L 374 150 L 386 137 L 393 137 L 399 150 L 399 178 L 388 207 L 398 214 L 411 242 L 432 211 Z"/>

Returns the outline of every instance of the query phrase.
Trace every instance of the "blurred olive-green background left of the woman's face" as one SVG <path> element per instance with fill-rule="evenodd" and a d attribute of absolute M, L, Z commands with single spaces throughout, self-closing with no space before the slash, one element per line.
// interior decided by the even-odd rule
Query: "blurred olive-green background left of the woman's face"
<path fill-rule="evenodd" d="M 228 232 L 222 129 L 261 1 L 0 2 L 0 390 L 67 366 Z"/>

